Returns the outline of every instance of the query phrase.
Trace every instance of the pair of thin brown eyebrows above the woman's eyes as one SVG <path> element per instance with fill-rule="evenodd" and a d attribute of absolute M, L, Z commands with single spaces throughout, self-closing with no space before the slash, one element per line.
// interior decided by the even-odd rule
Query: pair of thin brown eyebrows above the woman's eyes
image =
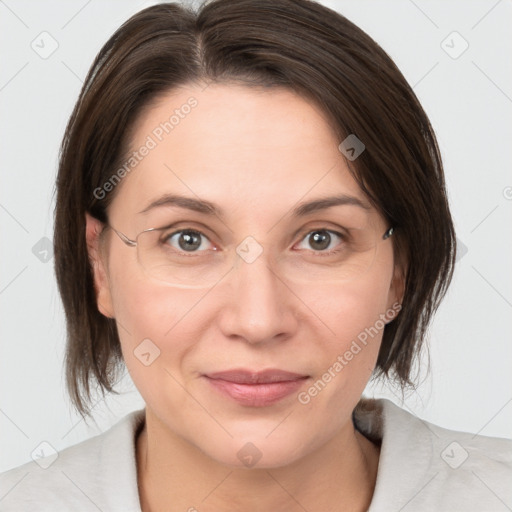
<path fill-rule="evenodd" d="M 369 204 L 363 203 L 360 199 L 354 196 L 345 194 L 337 196 L 323 197 L 309 201 L 307 203 L 301 203 L 294 210 L 292 210 L 293 217 L 304 217 L 310 213 L 314 213 L 320 210 L 325 210 L 333 206 L 357 206 L 364 210 L 369 210 L 371 207 Z M 176 194 L 165 194 L 164 196 L 152 201 L 139 213 L 146 213 L 149 210 L 158 208 L 161 206 L 177 206 L 186 210 L 192 210 L 194 212 L 202 213 L 205 215 L 215 215 L 219 218 L 223 218 L 224 211 L 219 206 L 216 206 L 210 201 L 195 199 L 193 197 L 180 196 Z"/>

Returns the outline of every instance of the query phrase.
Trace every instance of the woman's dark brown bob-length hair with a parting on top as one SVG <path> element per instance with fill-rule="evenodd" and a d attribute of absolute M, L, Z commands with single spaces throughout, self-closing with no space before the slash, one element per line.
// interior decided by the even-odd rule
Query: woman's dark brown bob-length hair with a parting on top
<path fill-rule="evenodd" d="M 455 235 L 430 122 L 390 57 L 342 15 L 309 0 L 213 0 L 198 12 L 149 7 L 125 22 L 96 57 L 61 147 L 55 270 L 67 322 L 66 380 L 90 413 L 91 384 L 115 392 L 124 367 L 114 319 L 99 311 L 85 239 L 85 212 L 107 221 L 115 190 L 94 191 L 122 164 L 129 128 L 159 95 L 187 83 L 280 86 L 316 102 L 340 142 L 366 150 L 351 171 L 396 228 L 407 263 L 403 307 L 384 330 L 375 375 L 410 385 L 411 368 L 446 292 Z"/>

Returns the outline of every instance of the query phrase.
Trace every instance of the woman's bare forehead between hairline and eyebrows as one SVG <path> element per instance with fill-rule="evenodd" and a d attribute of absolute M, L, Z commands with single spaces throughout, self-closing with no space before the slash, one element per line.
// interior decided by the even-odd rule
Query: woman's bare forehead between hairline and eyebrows
<path fill-rule="evenodd" d="M 320 109 L 291 91 L 182 87 L 160 97 L 134 125 L 130 151 L 138 161 L 114 203 L 133 215 L 172 193 L 242 217 L 279 215 L 333 194 L 367 203 L 340 142 Z"/>

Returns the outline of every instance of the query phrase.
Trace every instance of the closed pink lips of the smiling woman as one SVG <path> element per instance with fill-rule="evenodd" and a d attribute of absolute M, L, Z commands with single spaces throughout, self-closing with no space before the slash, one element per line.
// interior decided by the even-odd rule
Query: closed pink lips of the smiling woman
<path fill-rule="evenodd" d="M 248 407 L 265 407 L 297 392 L 309 379 L 284 370 L 234 369 L 203 375 L 221 395 Z"/>

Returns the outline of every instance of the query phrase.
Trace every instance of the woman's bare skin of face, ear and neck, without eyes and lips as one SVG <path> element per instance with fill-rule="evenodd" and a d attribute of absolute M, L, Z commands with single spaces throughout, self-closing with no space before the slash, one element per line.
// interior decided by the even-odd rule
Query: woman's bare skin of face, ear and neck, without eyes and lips
<path fill-rule="evenodd" d="M 381 335 L 305 405 L 292 394 L 266 407 L 242 406 L 201 374 L 280 368 L 309 375 L 301 388 L 307 390 L 400 301 L 392 243 L 379 244 L 370 269 L 342 286 L 279 279 L 269 268 L 272 251 L 301 244 L 301 237 L 290 239 L 298 228 L 333 229 L 342 214 L 362 218 L 357 207 L 337 206 L 292 219 L 298 203 L 334 193 L 367 200 L 315 105 L 284 89 L 203 87 L 173 90 L 140 117 L 132 149 L 174 108 L 191 96 L 198 101 L 123 179 L 109 221 L 134 239 L 171 215 L 208 226 L 220 246 L 252 236 L 262 255 L 214 287 L 178 288 L 148 278 L 134 248 L 111 230 L 100 237 L 101 223 L 86 217 L 98 307 L 116 319 L 127 368 L 147 404 L 136 447 L 142 509 L 366 510 L 379 449 L 355 431 L 351 414 Z M 169 192 L 215 203 L 225 210 L 223 222 L 169 207 L 137 213 Z M 376 232 L 388 229 L 375 209 L 364 215 Z M 302 242 L 299 250 L 306 247 Z M 134 355 L 146 338 L 160 350 L 149 366 Z M 248 442 L 262 454 L 251 468 L 237 456 Z"/>

